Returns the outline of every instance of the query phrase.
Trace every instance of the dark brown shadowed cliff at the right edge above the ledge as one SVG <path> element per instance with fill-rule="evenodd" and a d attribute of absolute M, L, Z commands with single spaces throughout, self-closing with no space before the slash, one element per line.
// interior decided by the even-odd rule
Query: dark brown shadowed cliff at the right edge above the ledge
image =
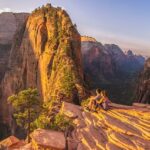
<path fill-rule="evenodd" d="M 137 101 L 150 104 L 150 58 L 147 59 L 144 70 L 139 78 Z"/>

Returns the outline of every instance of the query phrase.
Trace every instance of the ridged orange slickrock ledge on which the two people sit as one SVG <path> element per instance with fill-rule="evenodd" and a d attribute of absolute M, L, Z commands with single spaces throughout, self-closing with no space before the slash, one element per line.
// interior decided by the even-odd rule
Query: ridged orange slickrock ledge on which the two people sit
<path fill-rule="evenodd" d="M 64 114 L 73 118 L 76 124 L 75 130 L 68 137 L 70 150 L 150 149 L 148 105 L 123 106 L 112 103 L 110 107 L 108 111 L 92 113 L 64 103 Z"/>

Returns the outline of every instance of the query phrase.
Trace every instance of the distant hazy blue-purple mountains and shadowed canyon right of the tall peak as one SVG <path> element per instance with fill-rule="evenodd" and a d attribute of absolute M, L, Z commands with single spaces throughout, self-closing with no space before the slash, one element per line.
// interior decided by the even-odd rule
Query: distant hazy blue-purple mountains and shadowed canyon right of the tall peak
<path fill-rule="evenodd" d="M 83 67 L 89 87 L 107 90 L 116 103 L 131 104 L 144 57 L 131 50 L 124 53 L 115 44 L 103 45 L 88 37 L 81 39 Z"/>

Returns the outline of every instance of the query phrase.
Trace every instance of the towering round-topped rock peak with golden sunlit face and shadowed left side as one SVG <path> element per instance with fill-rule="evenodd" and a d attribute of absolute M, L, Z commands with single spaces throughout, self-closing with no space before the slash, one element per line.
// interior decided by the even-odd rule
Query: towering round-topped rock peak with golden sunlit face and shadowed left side
<path fill-rule="evenodd" d="M 8 96 L 28 87 L 37 87 L 44 101 L 61 97 L 79 104 L 85 94 L 80 34 L 68 14 L 51 5 L 36 9 L 15 36 L 8 69 L 3 116 L 8 116 Z"/>

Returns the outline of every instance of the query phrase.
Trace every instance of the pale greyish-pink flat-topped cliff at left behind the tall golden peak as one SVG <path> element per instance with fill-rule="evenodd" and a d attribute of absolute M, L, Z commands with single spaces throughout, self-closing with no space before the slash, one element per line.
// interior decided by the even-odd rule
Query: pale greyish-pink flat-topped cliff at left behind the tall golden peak
<path fill-rule="evenodd" d="M 0 14 L 0 81 L 7 69 L 13 37 L 27 16 L 27 13 Z"/>

